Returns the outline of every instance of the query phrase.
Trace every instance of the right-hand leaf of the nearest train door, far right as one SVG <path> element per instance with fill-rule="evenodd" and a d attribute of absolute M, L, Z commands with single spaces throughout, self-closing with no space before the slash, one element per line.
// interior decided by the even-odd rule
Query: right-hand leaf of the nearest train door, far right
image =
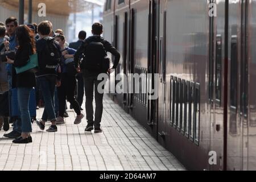
<path fill-rule="evenodd" d="M 248 165 L 248 56 L 247 0 L 229 2 L 229 72 L 227 112 L 227 169 Z"/>

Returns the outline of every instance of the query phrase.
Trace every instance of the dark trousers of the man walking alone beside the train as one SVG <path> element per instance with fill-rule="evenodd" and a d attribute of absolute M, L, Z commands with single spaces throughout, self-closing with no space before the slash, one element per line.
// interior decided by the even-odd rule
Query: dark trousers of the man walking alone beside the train
<path fill-rule="evenodd" d="M 85 97 L 86 97 L 86 119 L 88 125 L 94 125 L 97 129 L 101 126 L 101 118 L 103 113 L 103 97 L 104 93 L 99 93 L 97 88 L 98 84 L 102 81 L 97 80 L 97 76 L 89 76 L 84 78 L 84 88 L 85 88 Z M 95 86 L 95 119 L 93 121 L 93 90 Z M 104 89 L 104 86 L 103 86 Z"/>

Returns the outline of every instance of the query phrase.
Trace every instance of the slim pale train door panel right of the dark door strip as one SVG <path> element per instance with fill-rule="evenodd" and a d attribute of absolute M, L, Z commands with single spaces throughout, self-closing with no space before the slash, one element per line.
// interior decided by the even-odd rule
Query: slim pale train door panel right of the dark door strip
<path fill-rule="evenodd" d="M 166 133 L 166 117 L 167 105 L 166 105 L 166 20 L 167 10 L 165 7 L 166 3 L 160 1 L 160 12 L 159 12 L 159 100 L 158 100 L 158 135 L 159 142 L 164 143 Z"/>

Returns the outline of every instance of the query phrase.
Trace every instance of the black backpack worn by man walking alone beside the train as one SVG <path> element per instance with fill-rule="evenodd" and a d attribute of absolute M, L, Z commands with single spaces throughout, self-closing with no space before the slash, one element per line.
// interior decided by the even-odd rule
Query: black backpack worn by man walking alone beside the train
<path fill-rule="evenodd" d="M 85 44 L 82 69 L 93 72 L 107 72 L 110 68 L 110 59 L 105 51 L 104 42 L 85 42 Z"/>

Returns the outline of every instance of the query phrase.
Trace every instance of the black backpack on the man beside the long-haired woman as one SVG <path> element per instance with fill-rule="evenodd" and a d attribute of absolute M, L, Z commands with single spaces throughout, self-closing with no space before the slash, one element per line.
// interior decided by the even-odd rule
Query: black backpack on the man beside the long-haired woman
<path fill-rule="evenodd" d="M 46 39 L 46 46 L 40 51 L 39 63 L 40 69 L 48 70 L 49 72 L 55 72 L 56 68 L 60 65 L 61 52 L 56 46 L 56 41 L 54 38 Z"/>

